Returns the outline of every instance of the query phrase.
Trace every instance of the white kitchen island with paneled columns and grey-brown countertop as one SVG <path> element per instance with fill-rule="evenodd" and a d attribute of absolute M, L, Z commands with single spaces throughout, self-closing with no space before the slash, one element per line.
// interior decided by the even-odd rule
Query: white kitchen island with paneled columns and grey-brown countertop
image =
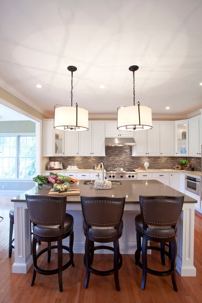
<path fill-rule="evenodd" d="M 84 185 L 85 180 L 71 187 L 79 187 L 83 196 L 125 196 L 125 208 L 123 214 L 123 234 L 119 239 L 120 252 L 134 254 L 137 249 L 136 231 L 134 219 L 140 213 L 139 195 L 156 196 L 181 196 L 184 195 L 177 190 L 164 185 L 156 180 L 121 180 L 122 185 L 114 186 L 109 190 L 94 189 L 93 186 Z M 34 187 L 27 194 L 48 195 L 50 186 Z M 30 245 L 30 219 L 25 200 L 22 193 L 11 200 L 14 202 L 15 217 L 15 262 L 12 270 L 14 273 L 26 273 L 32 265 Z M 193 266 L 194 252 L 194 203 L 197 201 L 184 195 L 184 205 L 178 223 L 177 235 L 177 262 L 176 268 L 181 276 L 196 276 L 196 268 Z M 84 253 L 85 237 L 83 232 L 83 215 L 80 204 L 80 196 L 67 196 L 68 213 L 74 217 L 74 253 Z M 67 238 L 68 239 L 68 238 Z M 64 239 L 64 245 L 68 245 Z M 109 253 L 100 251 L 100 253 Z"/>

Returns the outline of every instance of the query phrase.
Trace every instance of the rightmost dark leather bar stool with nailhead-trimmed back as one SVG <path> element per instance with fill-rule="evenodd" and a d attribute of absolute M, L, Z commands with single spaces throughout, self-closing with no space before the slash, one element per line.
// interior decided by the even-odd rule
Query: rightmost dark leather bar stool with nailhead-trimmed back
<path fill-rule="evenodd" d="M 171 275 L 173 288 L 178 291 L 175 267 L 177 256 L 176 226 L 181 215 L 184 196 L 140 196 L 141 214 L 135 217 L 137 233 L 137 250 L 135 264 L 142 269 L 142 290 L 146 285 L 147 273 L 157 276 Z M 141 237 L 142 246 L 141 246 Z M 148 240 L 159 242 L 160 247 L 148 246 Z M 165 243 L 169 242 L 170 252 L 165 251 Z M 156 271 L 147 267 L 147 249 L 161 252 L 161 262 L 165 265 L 165 254 L 171 259 L 170 269 Z M 142 252 L 142 263 L 140 253 Z"/>

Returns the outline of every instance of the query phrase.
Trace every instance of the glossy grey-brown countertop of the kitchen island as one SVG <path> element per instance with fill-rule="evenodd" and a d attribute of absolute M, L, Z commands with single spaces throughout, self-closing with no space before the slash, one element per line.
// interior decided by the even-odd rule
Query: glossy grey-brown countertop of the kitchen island
<path fill-rule="evenodd" d="M 186 196 L 177 190 L 157 181 L 157 180 L 121 180 L 122 185 L 113 186 L 111 189 L 95 189 L 94 186 L 84 185 L 85 180 L 80 180 L 79 184 L 71 184 L 70 187 L 79 187 L 80 195 L 82 196 L 106 196 L 106 197 L 123 197 L 126 196 L 125 203 L 139 203 L 139 196 L 185 196 L 184 203 L 197 203 L 195 199 Z M 47 196 L 50 191 L 50 186 L 43 185 L 42 187 L 33 187 L 28 190 L 29 195 L 44 195 Z M 22 193 L 13 199 L 12 202 L 26 202 L 25 193 Z M 79 203 L 80 196 L 67 196 L 68 203 Z"/>

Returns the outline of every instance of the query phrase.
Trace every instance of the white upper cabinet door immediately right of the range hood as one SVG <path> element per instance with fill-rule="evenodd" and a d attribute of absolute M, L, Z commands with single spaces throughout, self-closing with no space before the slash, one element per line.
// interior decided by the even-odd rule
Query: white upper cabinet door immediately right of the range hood
<path fill-rule="evenodd" d="M 147 155 L 147 131 L 134 132 L 136 145 L 132 147 L 132 155 Z"/>

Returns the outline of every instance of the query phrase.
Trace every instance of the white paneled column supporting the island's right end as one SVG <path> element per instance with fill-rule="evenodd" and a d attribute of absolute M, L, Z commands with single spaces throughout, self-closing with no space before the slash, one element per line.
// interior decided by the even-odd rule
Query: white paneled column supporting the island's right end
<path fill-rule="evenodd" d="M 193 266 L 194 254 L 194 203 L 183 204 L 177 226 L 177 261 L 176 269 L 181 276 L 196 276 Z"/>

